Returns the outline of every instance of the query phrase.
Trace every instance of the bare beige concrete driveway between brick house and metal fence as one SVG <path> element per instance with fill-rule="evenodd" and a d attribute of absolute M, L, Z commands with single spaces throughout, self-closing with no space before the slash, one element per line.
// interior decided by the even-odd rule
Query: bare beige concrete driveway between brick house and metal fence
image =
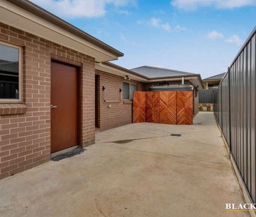
<path fill-rule="evenodd" d="M 249 216 L 212 113 L 192 126 L 129 124 L 0 180 L 0 216 Z M 181 134 L 171 136 L 171 134 Z"/>

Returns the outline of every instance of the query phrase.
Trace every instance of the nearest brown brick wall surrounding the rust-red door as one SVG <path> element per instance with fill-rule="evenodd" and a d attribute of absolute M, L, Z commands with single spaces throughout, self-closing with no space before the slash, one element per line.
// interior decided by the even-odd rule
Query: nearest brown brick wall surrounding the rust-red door
<path fill-rule="evenodd" d="M 0 114 L 5 114 L 0 115 L 0 179 L 50 160 L 51 58 L 81 66 L 80 140 L 83 146 L 93 144 L 94 59 L 2 23 L 0 40 L 22 47 L 23 102 L 27 106 L 24 110 L 15 104 L 0 106 Z"/>

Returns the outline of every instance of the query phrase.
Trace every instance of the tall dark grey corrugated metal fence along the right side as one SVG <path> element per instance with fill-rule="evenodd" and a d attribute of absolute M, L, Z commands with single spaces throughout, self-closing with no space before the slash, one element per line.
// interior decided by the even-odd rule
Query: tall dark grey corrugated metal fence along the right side
<path fill-rule="evenodd" d="M 253 202 L 255 189 L 256 29 L 213 91 L 215 118 Z"/>

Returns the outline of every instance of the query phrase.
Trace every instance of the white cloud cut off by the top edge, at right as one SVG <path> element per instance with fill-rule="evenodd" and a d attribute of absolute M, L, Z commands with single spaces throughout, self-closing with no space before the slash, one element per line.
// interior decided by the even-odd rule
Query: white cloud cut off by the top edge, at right
<path fill-rule="evenodd" d="M 196 10 L 201 7 L 227 9 L 256 6 L 256 0 L 172 0 L 171 5 L 183 10 Z"/>

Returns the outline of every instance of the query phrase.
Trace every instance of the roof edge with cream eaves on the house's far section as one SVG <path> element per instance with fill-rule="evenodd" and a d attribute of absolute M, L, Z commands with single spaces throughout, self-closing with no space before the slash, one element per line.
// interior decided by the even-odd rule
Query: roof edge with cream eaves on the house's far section
<path fill-rule="evenodd" d="M 146 67 L 149 67 L 149 66 L 146 66 Z M 150 67 L 150 68 L 156 68 L 156 67 Z M 128 75 L 133 80 L 138 80 L 140 82 L 145 82 L 145 83 L 181 80 L 181 78 L 184 77 L 185 80 L 190 80 L 190 82 L 194 85 L 194 87 L 197 87 L 198 89 L 204 89 L 204 85 L 201 80 L 201 75 L 194 74 L 194 73 L 185 73 L 178 70 L 163 69 L 166 71 L 166 73 L 162 73 L 159 76 L 155 74 L 155 76 L 152 75 L 152 77 L 148 77 L 149 76 L 148 74 L 145 74 L 145 73 L 142 74 L 139 71 L 135 71 L 134 69 L 129 70 L 127 68 L 123 68 L 122 66 L 118 66 L 110 62 L 97 63 L 96 69 L 104 71 L 106 73 L 111 73 L 114 75 L 120 75 L 124 77 Z M 161 69 L 161 68 L 158 68 L 158 69 Z"/>

